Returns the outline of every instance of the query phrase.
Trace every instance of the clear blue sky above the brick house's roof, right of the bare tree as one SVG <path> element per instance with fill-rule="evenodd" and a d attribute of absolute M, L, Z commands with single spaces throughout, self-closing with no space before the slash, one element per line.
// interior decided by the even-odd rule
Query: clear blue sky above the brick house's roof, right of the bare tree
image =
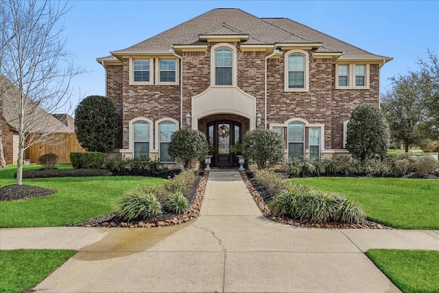
<path fill-rule="evenodd" d="M 105 95 L 104 68 L 96 58 L 125 49 L 213 8 L 240 8 L 258 17 L 287 17 L 315 30 L 394 58 L 388 78 L 417 69 L 427 49 L 439 55 L 439 1 L 69 1 L 63 37 L 74 63 L 88 73 L 73 80 L 73 105 Z"/>

